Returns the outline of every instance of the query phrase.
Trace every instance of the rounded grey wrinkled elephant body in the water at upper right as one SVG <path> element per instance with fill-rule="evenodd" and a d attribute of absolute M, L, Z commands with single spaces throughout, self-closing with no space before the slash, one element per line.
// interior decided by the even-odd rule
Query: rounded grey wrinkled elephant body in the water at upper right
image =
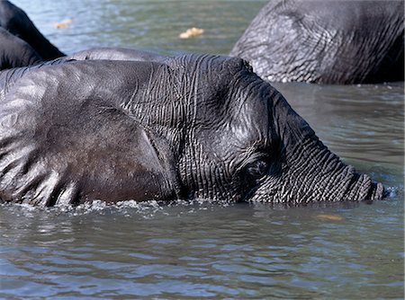
<path fill-rule="evenodd" d="M 269 82 L 404 79 L 403 1 L 271 1 L 230 52 Z"/>

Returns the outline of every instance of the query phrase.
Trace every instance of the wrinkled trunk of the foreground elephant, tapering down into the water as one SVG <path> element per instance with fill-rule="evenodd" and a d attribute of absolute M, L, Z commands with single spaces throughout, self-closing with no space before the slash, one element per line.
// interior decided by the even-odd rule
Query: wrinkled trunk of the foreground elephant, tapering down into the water
<path fill-rule="evenodd" d="M 383 185 L 331 153 L 281 94 L 276 95 L 273 108 L 280 137 L 278 157 L 253 200 L 302 203 L 383 198 Z"/>

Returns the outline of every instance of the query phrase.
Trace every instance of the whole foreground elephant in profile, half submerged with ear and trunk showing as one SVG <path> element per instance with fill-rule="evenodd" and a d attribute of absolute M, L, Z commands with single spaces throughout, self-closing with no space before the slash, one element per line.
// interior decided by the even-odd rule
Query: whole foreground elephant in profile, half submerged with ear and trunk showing
<path fill-rule="evenodd" d="M 59 58 L 1 72 L 0 88 L 6 202 L 383 197 L 237 57 Z"/>

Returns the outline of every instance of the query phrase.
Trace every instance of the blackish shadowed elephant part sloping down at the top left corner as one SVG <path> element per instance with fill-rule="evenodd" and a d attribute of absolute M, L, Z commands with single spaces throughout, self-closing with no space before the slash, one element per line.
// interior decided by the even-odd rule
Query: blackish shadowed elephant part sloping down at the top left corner
<path fill-rule="evenodd" d="M 18 39 L 25 41 L 42 60 L 51 60 L 65 56 L 63 52 L 53 46 L 49 40 L 38 31 L 22 9 L 5 0 L 0 0 L 0 27 L 3 28 L 4 31 L 10 32 Z M 0 35 L 2 47 L 4 47 L 3 45 L 6 41 L 7 40 L 4 40 L 4 35 Z M 26 47 L 23 47 L 21 50 L 23 51 L 25 48 Z"/>

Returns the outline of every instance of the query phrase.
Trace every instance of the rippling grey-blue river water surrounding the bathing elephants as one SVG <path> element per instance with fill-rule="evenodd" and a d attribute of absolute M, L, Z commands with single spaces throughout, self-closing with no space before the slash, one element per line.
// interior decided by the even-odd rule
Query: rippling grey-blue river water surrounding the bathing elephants
<path fill-rule="evenodd" d="M 18 0 L 60 49 L 227 54 L 265 2 Z M 71 19 L 66 29 L 53 22 Z M 179 40 L 187 28 L 202 36 Z M 391 190 L 308 207 L 0 207 L 0 297 L 402 298 L 404 84 L 275 84 L 321 140 Z"/>

